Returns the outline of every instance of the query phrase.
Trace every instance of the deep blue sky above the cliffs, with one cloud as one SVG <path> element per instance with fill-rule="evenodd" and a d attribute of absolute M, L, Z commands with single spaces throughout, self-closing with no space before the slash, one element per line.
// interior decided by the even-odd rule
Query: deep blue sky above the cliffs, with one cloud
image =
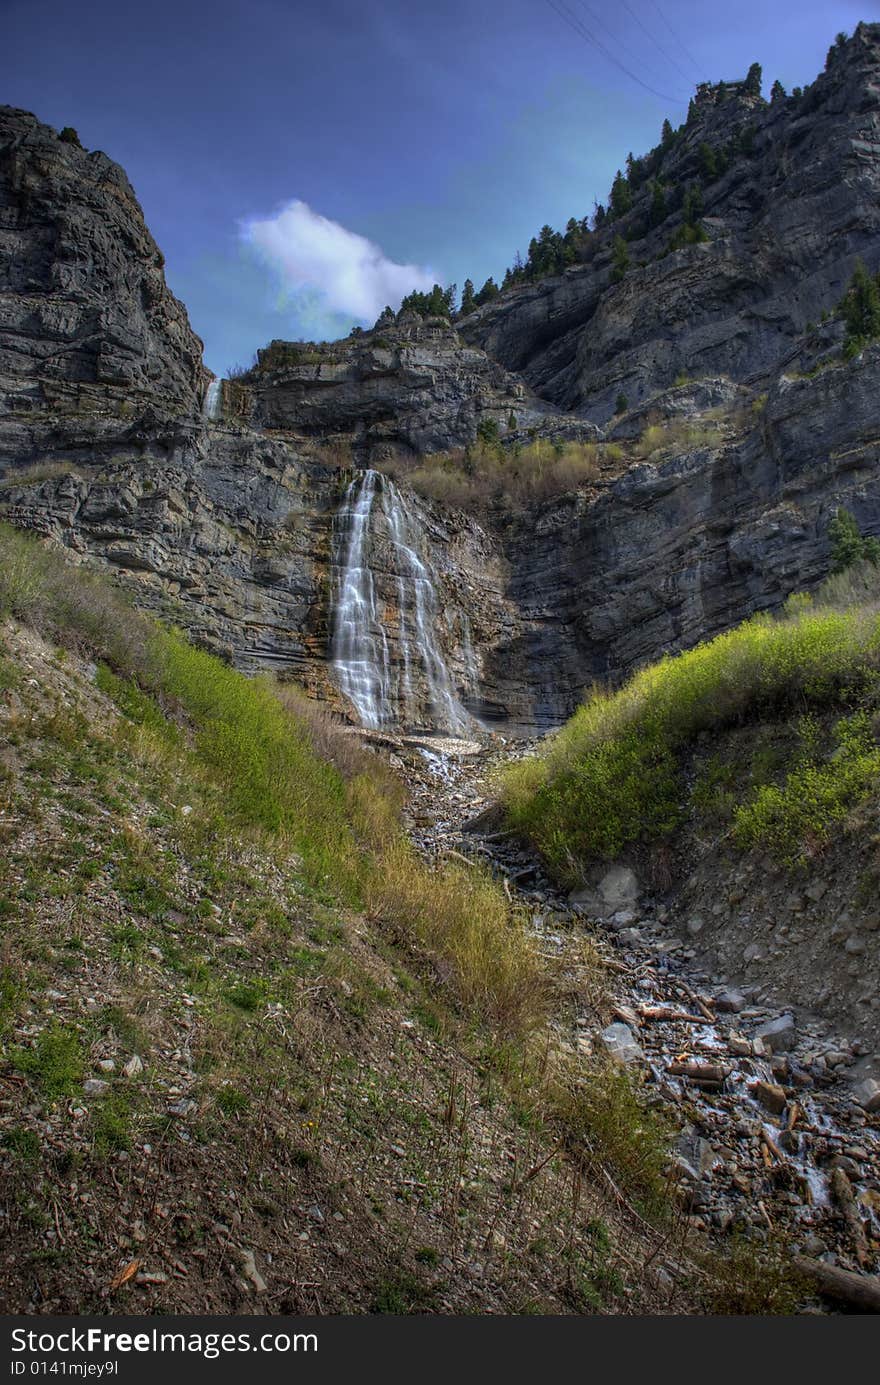
<path fill-rule="evenodd" d="M 759 61 L 765 90 L 804 84 L 840 29 L 880 18 L 850 0 L 0 8 L 0 100 L 122 163 L 218 373 L 273 337 L 344 334 L 401 285 L 500 276 L 545 222 L 604 201 L 700 76 Z"/>

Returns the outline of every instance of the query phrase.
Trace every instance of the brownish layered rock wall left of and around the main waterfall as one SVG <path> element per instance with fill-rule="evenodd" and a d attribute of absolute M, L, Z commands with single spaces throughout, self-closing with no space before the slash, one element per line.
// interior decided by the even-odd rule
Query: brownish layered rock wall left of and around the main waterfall
<path fill-rule="evenodd" d="M 119 452 L 43 479 L 11 474 L 0 514 L 80 562 L 109 566 L 139 605 L 238 668 L 294 676 L 358 720 L 333 663 L 351 485 L 351 471 L 285 442 L 208 425 L 162 457 Z M 371 519 L 364 546 L 376 658 L 388 668 L 382 724 L 466 731 L 473 716 L 506 719 L 484 674 L 485 651 L 516 643 L 520 623 L 499 546 L 467 515 L 413 494 L 405 506 L 412 557 L 403 561 L 387 519 Z M 430 626 L 430 655 L 420 625 Z M 443 677 L 449 706 L 438 699 Z M 517 699 L 527 706 L 524 684 Z"/>

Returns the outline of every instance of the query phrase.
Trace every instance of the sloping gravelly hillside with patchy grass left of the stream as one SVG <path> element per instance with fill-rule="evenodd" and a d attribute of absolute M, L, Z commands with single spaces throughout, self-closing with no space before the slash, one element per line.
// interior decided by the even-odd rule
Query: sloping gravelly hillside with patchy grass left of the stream
<path fill-rule="evenodd" d="M 700 1305 L 639 1270 L 685 1255 L 664 1122 L 572 1060 L 595 947 L 542 957 L 302 694 L 10 529 L 0 616 L 7 1310 Z"/>

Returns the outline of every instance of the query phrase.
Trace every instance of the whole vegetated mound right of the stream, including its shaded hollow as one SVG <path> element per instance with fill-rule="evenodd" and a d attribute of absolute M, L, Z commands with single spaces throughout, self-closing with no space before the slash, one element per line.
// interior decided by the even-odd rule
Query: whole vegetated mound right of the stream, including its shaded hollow
<path fill-rule="evenodd" d="M 865 561 L 815 598 L 755 616 L 596 690 L 509 769 L 510 824 L 574 884 L 597 860 L 711 819 L 789 867 L 818 856 L 880 789 L 880 576 Z M 723 735 L 751 726 L 743 759 Z"/>

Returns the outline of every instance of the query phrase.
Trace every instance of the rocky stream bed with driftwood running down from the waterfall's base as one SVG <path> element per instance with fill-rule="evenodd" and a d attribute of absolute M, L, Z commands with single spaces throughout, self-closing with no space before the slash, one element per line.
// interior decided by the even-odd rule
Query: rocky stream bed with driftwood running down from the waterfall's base
<path fill-rule="evenodd" d="M 876 1273 L 880 1114 L 854 1100 L 845 1076 L 858 1044 L 751 1003 L 750 988 L 714 982 L 680 956 L 687 949 L 643 893 L 596 921 L 521 843 L 481 824 L 492 803 L 486 773 L 529 747 L 441 737 L 401 737 L 396 751 L 385 744 L 406 769 L 420 852 L 485 863 L 531 915 L 543 953 L 563 956 L 586 935 L 608 961 L 613 1022 L 583 1010 L 574 1029 L 558 1025 L 558 1042 L 572 1054 L 604 1050 L 672 1108 L 675 1177 L 692 1224 L 779 1235 L 787 1251 Z"/>

